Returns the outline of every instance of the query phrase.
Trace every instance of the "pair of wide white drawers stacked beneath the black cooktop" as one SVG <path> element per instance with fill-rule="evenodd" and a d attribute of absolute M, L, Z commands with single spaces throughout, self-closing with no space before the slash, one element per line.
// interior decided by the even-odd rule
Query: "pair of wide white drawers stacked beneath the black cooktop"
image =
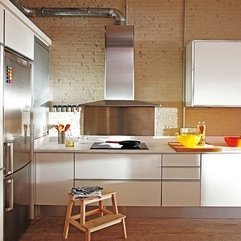
<path fill-rule="evenodd" d="M 160 206 L 160 162 L 151 154 L 76 154 L 75 186 L 117 191 L 118 205 Z"/>

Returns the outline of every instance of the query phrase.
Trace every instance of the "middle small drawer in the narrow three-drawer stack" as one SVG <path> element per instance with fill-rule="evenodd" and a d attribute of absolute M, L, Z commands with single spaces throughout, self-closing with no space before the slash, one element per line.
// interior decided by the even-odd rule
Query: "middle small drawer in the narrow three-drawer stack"
<path fill-rule="evenodd" d="M 163 167 L 162 179 L 200 179 L 199 167 Z"/>

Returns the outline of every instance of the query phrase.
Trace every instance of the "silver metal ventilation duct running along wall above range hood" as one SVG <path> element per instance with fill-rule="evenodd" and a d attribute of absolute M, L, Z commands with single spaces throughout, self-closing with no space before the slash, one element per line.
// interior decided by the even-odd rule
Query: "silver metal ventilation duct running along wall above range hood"
<path fill-rule="evenodd" d="M 28 17 L 112 17 L 116 24 L 126 24 L 122 12 L 115 8 L 26 8 L 19 0 L 10 1 Z"/>

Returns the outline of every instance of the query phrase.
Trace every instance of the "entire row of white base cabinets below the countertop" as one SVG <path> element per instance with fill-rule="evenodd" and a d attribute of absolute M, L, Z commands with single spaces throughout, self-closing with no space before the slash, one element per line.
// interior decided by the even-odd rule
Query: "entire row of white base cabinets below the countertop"
<path fill-rule="evenodd" d="M 35 153 L 35 164 L 35 205 L 98 185 L 119 206 L 241 207 L 241 154 Z"/>

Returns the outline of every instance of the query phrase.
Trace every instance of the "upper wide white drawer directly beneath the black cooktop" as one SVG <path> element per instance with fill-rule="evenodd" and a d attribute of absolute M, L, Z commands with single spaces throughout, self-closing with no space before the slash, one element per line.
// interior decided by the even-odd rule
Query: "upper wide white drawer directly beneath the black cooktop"
<path fill-rule="evenodd" d="M 80 179 L 160 179 L 160 155 L 75 154 Z"/>

